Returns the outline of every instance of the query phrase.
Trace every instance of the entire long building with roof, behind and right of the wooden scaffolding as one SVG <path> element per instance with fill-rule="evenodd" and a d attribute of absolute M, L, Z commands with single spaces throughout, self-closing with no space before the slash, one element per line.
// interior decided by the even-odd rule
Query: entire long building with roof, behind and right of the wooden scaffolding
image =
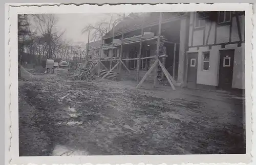
<path fill-rule="evenodd" d="M 112 31 L 103 37 L 104 44 L 113 42 L 116 47 L 102 50 L 102 58 L 119 57 L 122 27 L 124 39 L 131 41 L 141 34 L 140 17 L 117 24 L 114 37 Z M 159 13 L 144 15 L 144 33 L 157 36 L 158 18 Z M 163 13 L 161 36 L 165 39 L 162 42 L 168 56 L 165 67 L 177 85 L 190 89 L 245 88 L 244 12 Z M 155 51 L 149 50 L 154 49 L 155 43 L 154 40 L 143 42 L 142 57 L 154 56 Z M 139 42 L 124 43 L 122 58 L 137 58 L 139 49 Z M 136 69 L 136 62 L 124 61 L 131 70 Z M 150 62 L 142 60 L 141 63 L 140 69 L 147 70 Z"/>

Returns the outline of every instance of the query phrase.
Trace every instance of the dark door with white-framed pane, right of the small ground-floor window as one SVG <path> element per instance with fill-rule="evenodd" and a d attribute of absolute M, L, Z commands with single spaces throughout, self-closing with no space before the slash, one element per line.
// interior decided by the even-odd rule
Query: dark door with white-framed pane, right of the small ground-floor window
<path fill-rule="evenodd" d="M 219 89 L 231 90 L 233 79 L 234 49 L 220 51 Z"/>

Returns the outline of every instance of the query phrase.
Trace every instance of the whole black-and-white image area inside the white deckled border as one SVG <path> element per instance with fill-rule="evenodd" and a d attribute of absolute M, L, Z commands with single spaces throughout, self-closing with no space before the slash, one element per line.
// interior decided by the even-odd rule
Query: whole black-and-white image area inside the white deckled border
<path fill-rule="evenodd" d="M 17 14 L 18 156 L 246 154 L 246 11 L 126 11 Z"/>

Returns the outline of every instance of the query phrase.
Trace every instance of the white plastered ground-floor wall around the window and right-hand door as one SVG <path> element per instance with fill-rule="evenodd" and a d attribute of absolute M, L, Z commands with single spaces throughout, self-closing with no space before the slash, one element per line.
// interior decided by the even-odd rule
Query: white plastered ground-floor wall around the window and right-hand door
<path fill-rule="evenodd" d="M 219 62 L 220 62 L 220 50 L 234 49 L 234 66 L 233 66 L 233 80 L 232 88 L 245 89 L 245 49 L 244 43 L 241 47 L 237 47 L 237 44 L 226 45 L 225 48 L 221 48 L 221 45 L 212 46 L 209 50 L 208 47 L 189 48 L 188 52 L 198 52 L 198 72 L 197 72 L 197 84 L 218 86 L 219 82 Z M 209 70 L 204 71 L 203 67 L 203 52 L 210 52 L 210 67 Z"/>

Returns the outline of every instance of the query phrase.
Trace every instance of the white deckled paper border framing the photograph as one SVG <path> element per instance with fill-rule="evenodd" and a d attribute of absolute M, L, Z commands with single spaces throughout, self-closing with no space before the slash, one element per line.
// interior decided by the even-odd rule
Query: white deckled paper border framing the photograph
<path fill-rule="evenodd" d="M 252 90 L 251 52 L 255 38 L 252 38 L 252 5 L 251 4 L 157 4 L 157 5 L 61 5 L 61 4 L 6 4 L 6 51 L 5 51 L 5 119 L 6 119 L 6 159 L 10 164 L 184 164 L 184 163 L 239 163 L 245 164 L 251 161 L 251 109 L 252 98 L 255 93 Z M 17 14 L 32 13 L 123 13 L 123 12 L 191 12 L 191 11 L 221 11 L 221 10 L 245 10 L 246 41 L 246 145 L 247 154 L 225 155 L 127 155 L 127 156 L 49 156 L 49 157 L 18 157 L 18 81 L 17 81 Z M 255 8 L 254 8 L 255 11 Z M 255 21 L 255 18 L 254 18 Z M 253 35 L 256 32 L 254 31 Z M 254 46 L 254 45 L 253 45 Z M 254 63 L 253 63 L 254 64 Z M 253 75 L 253 76 L 252 76 Z M 254 89 L 253 89 L 254 90 Z M 254 102 L 253 102 L 254 103 Z M 253 104 L 254 105 L 254 104 Z M 254 106 L 253 106 L 254 107 Z M 255 117 L 255 113 L 253 115 Z M 254 135 L 255 136 L 255 135 Z M 254 150 L 253 150 L 254 151 Z M 141 163 L 143 162 L 143 163 Z M 89 163 L 88 163 L 89 165 Z"/>

